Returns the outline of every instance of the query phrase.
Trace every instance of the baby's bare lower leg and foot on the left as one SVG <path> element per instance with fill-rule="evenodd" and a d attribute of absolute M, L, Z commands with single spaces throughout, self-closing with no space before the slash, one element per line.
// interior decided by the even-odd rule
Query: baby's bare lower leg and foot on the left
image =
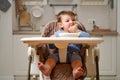
<path fill-rule="evenodd" d="M 45 64 L 43 64 L 42 62 L 39 62 L 39 63 L 38 63 L 39 69 L 40 69 L 40 70 L 42 71 L 42 73 L 43 73 L 44 75 L 46 75 L 46 76 L 50 76 L 51 71 L 52 71 L 52 69 L 55 67 L 55 65 L 56 65 L 56 61 L 55 61 L 55 59 L 52 58 L 52 57 L 49 57 L 49 58 L 46 60 Z"/>

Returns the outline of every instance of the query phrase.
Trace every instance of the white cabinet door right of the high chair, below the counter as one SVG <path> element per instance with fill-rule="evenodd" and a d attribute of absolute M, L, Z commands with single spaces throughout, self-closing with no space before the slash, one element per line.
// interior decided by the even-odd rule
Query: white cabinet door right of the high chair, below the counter
<path fill-rule="evenodd" d="M 116 75 L 116 36 L 104 36 L 100 47 L 100 75 Z"/>

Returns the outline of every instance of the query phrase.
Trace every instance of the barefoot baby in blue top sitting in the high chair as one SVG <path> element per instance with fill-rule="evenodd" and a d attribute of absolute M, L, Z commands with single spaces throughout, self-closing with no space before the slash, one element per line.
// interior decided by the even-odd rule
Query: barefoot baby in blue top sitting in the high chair
<path fill-rule="evenodd" d="M 79 32 L 79 37 L 90 37 L 88 33 L 79 30 L 77 26 L 75 26 L 77 25 L 76 14 L 72 11 L 61 11 L 57 15 L 57 22 L 59 29 L 51 37 L 59 37 L 59 34 L 64 32 Z M 45 64 L 43 64 L 42 62 L 38 63 L 39 69 L 46 76 L 50 76 L 51 71 L 55 67 L 56 63 L 59 62 L 58 49 L 56 48 L 56 46 L 54 44 L 49 44 L 49 48 L 51 49 L 53 54 L 50 54 Z M 81 45 L 79 44 L 69 44 L 67 47 L 67 62 L 71 64 L 74 79 L 78 79 L 84 74 L 84 70 L 82 68 L 82 58 L 79 55 L 80 48 Z"/>

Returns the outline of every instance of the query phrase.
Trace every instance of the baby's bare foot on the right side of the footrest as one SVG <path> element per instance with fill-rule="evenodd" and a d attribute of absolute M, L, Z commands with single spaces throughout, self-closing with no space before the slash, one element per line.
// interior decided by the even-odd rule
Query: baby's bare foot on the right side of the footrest
<path fill-rule="evenodd" d="M 83 76 L 84 70 L 81 67 L 73 69 L 73 78 L 78 79 L 80 76 Z"/>

